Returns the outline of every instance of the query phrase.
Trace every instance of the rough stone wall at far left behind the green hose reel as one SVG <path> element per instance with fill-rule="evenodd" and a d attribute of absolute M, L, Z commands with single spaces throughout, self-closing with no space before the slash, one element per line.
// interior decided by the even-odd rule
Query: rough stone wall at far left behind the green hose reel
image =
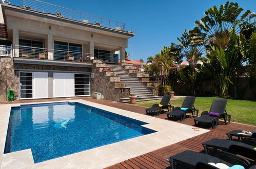
<path fill-rule="evenodd" d="M 13 59 L 0 57 L 0 101 L 8 101 L 7 92 L 10 89 L 15 91 L 15 99 L 19 99 L 19 79 L 13 70 Z"/>

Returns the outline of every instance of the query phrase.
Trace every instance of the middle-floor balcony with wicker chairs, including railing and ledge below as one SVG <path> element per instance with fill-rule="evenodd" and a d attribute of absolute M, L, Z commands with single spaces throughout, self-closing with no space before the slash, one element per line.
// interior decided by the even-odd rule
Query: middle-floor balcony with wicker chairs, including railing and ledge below
<path fill-rule="evenodd" d="M 91 67 L 90 55 L 90 53 L 76 51 L 16 45 L 13 58 L 14 62 L 19 64 Z"/>

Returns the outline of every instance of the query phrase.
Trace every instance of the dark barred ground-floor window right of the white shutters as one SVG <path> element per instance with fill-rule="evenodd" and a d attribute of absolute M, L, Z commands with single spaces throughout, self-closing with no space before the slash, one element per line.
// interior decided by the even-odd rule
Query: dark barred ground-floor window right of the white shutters
<path fill-rule="evenodd" d="M 90 75 L 75 74 L 75 96 L 90 95 Z"/>

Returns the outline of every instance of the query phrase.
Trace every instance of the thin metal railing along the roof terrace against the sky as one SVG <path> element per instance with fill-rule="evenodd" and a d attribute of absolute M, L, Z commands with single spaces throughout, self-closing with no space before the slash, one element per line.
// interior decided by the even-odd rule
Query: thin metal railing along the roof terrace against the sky
<path fill-rule="evenodd" d="M 51 13 L 59 17 L 70 18 L 84 23 L 91 23 L 107 28 L 125 30 L 125 24 L 115 20 L 107 19 L 100 16 L 68 9 L 65 7 L 49 4 L 38 0 L 21 0 L 21 7 L 38 12 Z"/>

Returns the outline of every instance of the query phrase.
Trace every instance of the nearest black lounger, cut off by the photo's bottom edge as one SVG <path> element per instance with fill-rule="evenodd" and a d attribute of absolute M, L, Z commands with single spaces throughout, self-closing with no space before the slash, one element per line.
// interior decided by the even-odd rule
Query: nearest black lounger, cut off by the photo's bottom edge
<path fill-rule="evenodd" d="M 228 152 L 215 152 L 214 156 L 210 156 L 203 153 L 185 151 L 170 157 L 171 167 L 175 168 L 175 163 L 179 163 L 189 168 L 219 168 L 214 164 L 225 164 L 229 167 L 233 165 L 241 165 L 246 168 L 254 165 L 254 162 L 249 162 L 247 159 L 228 153 Z M 211 165 L 211 163 L 214 163 Z"/>

